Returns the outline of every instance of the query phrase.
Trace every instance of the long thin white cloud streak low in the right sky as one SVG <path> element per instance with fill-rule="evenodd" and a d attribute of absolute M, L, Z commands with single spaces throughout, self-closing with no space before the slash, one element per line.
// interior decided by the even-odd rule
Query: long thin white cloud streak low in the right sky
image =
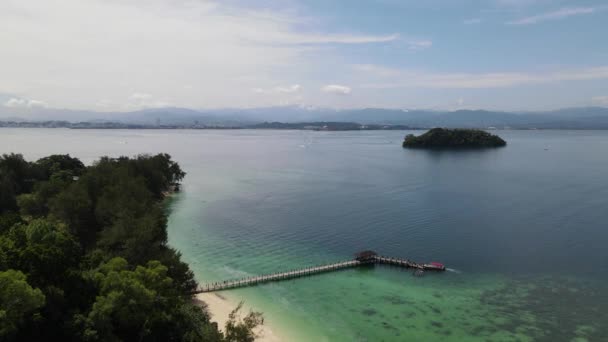
<path fill-rule="evenodd" d="M 558 69 L 538 72 L 436 73 L 391 69 L 374 65 L 354 65 L 353 69 L 379 80 L 362 84 L 360 88 L 505 88 L 528 84 L 547 84 L 563 81 L 608 79 L 608 66 Z M 388 81 L 388 82 L 387 82 Z"/>

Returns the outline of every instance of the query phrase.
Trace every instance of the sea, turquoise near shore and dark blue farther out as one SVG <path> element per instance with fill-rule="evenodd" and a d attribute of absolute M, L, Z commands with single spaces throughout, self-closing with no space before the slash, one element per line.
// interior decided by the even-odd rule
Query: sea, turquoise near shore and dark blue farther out
<path fill-rule="evenodd" d="M 403 150 L 408 132 L 1 130 L 0 152 L 167 152 L 188 172 L 170 243 L 200 281 L 350 258 L 227 291 L 299 340 L 608 340 L 608 132 L 501 131 L 506 148 Z"/>

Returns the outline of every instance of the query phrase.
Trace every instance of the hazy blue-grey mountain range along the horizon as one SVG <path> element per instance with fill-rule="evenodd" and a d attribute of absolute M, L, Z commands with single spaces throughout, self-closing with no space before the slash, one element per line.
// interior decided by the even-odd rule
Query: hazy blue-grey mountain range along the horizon
<path fill-rule="evenodd" d="M 544 112 L 500 112 L 487 110 L 402 110 L 364 108 L 335 110 L 303 106 L 250 109 L 193 110 L 167 107 L 132 112 L 95 112 L 53 108 L 0 107 L 0 120 L 70 122 L 120 122 L 143 125 L 238 126 L 263 122 L 356 122 L 409 127 L 521 128 L 521 129 L 608 129 L 608 108 L 566 108 Z"/>

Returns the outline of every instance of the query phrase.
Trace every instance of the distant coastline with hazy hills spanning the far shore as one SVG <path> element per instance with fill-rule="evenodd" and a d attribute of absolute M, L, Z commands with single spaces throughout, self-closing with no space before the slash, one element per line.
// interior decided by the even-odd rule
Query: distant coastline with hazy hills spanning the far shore
<path fill-rule="evenodd" d="M 302 106 L 99 112 L 0 106 L 0 126 L 92 129 L 608 129 L 608 107 L 545 111 L 310 108 Z M 327 128 L 324 128 L 327 126 Z"/>

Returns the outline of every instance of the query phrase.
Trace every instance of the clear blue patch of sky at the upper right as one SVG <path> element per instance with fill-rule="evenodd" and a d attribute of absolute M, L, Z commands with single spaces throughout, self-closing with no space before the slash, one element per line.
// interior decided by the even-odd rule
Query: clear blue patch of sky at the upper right
<path fill-rule="evenodd" d="M 355 29 L 378 35 L 396 33 L 401 38 L 378 51 L 361 45 L 343 49 L 345 57 L 362 63 L 492 72 L 598 65 L 608 57 L 608 3 L 601 1 L 346 3 L 313 1 L 308 10 L 325 17 L 331 25 L 324 28 L 328 31 Z M 561 16 L 559 11 L 563 11 Z M 552 19 L 551 14 L 556 16 Z M 428 40 L 432 46 L 412 51 L 404 44 L 408 39 Z"/>

